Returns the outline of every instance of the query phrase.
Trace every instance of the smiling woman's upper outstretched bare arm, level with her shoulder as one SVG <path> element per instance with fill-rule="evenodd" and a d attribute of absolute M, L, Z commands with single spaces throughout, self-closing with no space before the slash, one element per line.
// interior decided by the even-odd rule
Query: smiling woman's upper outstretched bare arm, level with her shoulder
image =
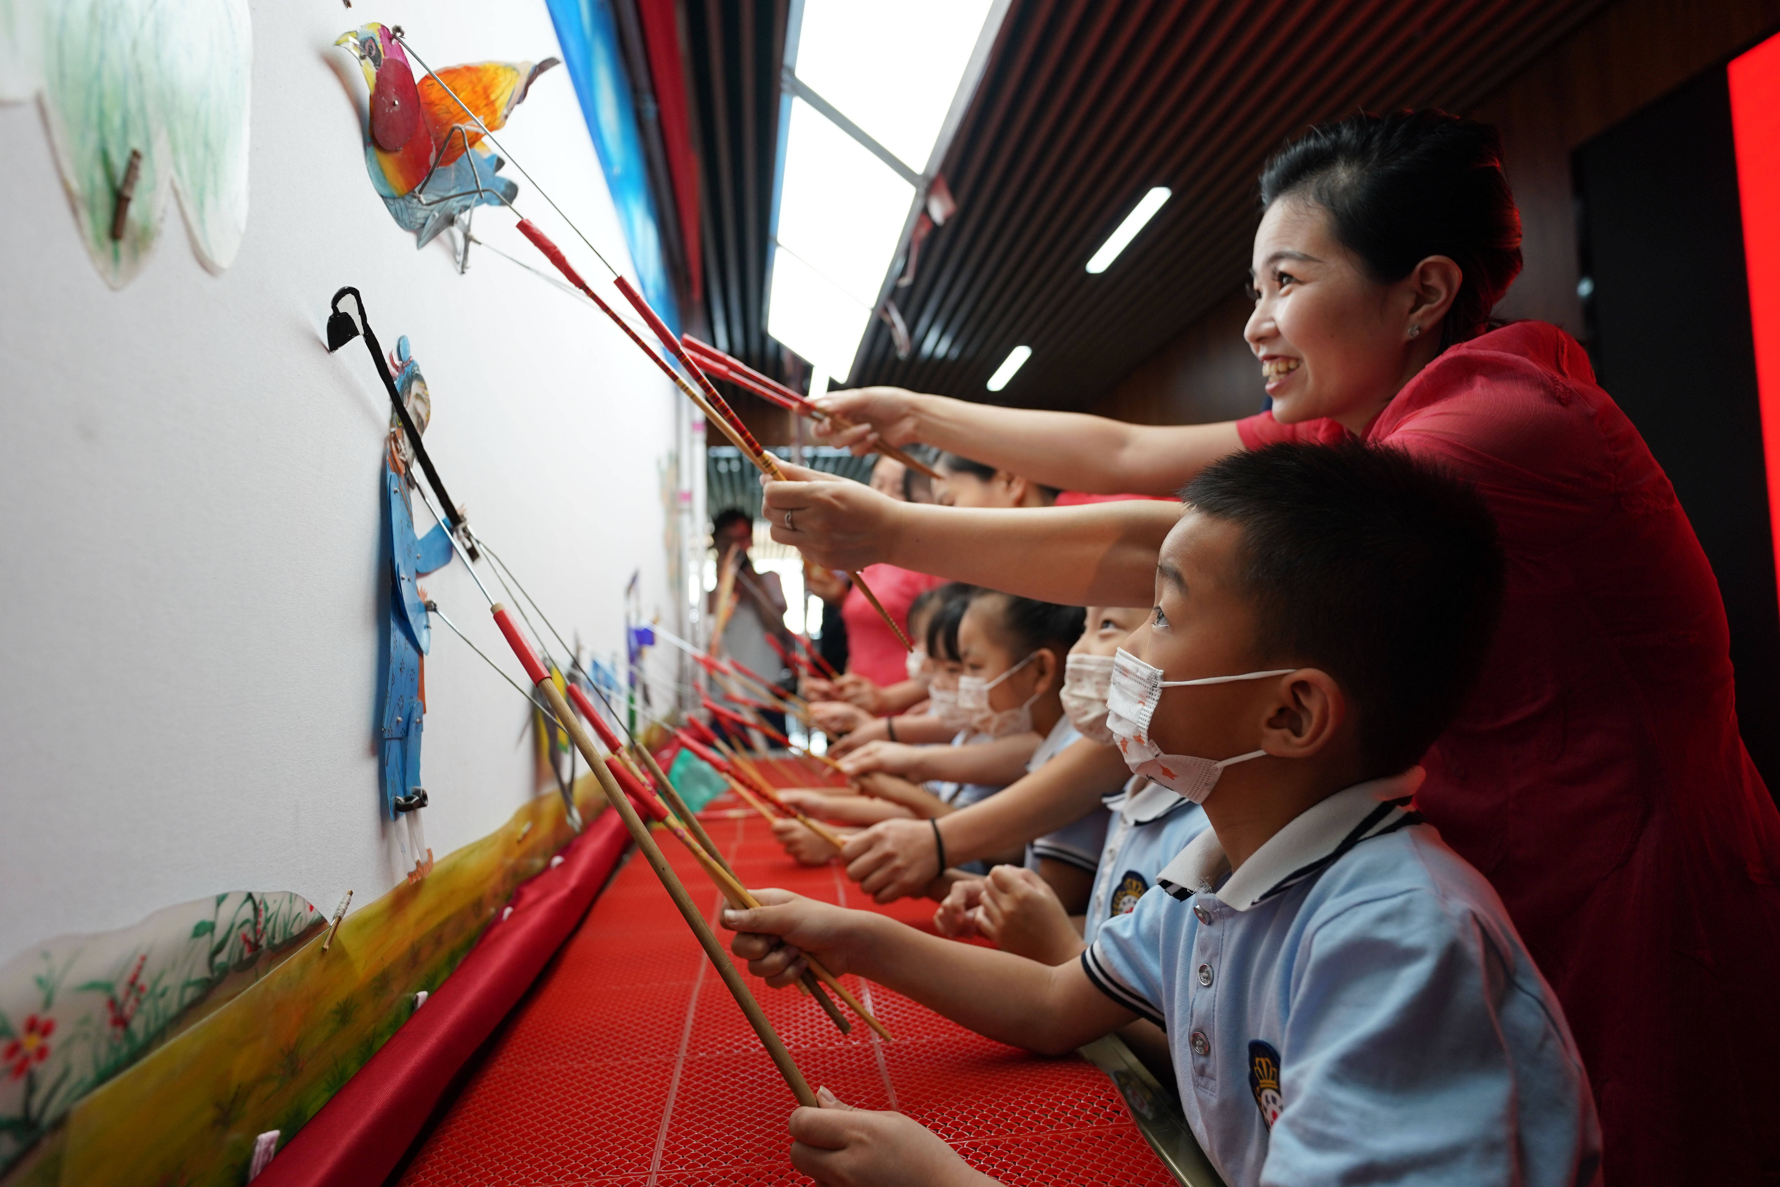
<path fill-rule="evenodd" d="M 854 424 L 828 431 L 833 422 L 819 422 L 815 434 L 854 454 L 870 452 L 878 441 L 924 441 L 1045 486 L 1100 495 L 1173 495 L 1200 470 L 1242 448 L 1234 420 L 1132 425 L 902 388 L 829 392 L 817 402 Z"/>

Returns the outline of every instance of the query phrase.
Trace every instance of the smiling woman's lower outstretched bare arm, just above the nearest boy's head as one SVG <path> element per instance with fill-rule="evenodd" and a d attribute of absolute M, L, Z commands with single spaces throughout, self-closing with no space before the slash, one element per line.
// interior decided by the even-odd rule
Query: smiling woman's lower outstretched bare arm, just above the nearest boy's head
<path fill-rule="evenodd" d="M 1177 504 L 990 511 L 885 498 L 862 482 L 781 464 L 765 484 L 773 539 L 815 564 L 895 564 L 1061 605 L 1139 605 L 1155 594 L 1155 553 Z"/>

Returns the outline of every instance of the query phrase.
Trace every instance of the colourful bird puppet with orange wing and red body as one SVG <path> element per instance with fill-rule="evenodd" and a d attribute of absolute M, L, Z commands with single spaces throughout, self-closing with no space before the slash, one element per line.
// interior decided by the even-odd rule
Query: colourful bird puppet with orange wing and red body
<path fill-rule="evenodd" d="M 340 34 L 335 44 L 358 59 L 370 87 L 365 119 L 370 183 L 400 228 L 415 233 L 417 247 L 425 247 L 457 215 L 475 206 L 513 201 L 520 187 L 495 176 L 506 162 L 482 142 L 477 119 L 490 132 L 504 128 L 513 109 L 525 101 L 532 80 L 557 59 L 546 57 L 536 66 L 447 66 L 436 78 L 425 75 L 417 85 L 408 52 L 386 25 L 361 25 Z"/>

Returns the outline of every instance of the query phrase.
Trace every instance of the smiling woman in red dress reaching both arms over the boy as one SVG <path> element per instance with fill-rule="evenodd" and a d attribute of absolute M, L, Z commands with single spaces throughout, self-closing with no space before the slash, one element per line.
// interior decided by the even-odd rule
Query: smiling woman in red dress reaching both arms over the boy
<path fill-rule="evenodd" d="M 1262 198 L 1246 338 L 1269 413 L 1155 429 L 869 388 L 833 399 L 865 422 L 837 440 L 922 440 L 1052 486 L 1162 493 L 1235 448 L 1355 434 L 1472 480 L 1501 523 L 1508 602 L 1417 806 L 1490 877 L 1558 989 L 1606 1180 L 1780 1180 L 1780 815 L 1737 733 L 1718 584 L 1575 340 L 1488 326 L 1520 269 L 1495 130 L 1356 116 L 1283 149 Z M 837 566 L 1095 605 L 1150 603 L 1177 516 L 851 495 L 769 486 L 774 523 L 796 523 L 774 537 Z"/>

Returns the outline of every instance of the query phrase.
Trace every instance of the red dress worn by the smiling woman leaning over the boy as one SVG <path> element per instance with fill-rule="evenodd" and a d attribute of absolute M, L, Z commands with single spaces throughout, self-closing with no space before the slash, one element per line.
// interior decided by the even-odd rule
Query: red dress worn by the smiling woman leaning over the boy
<path fill-rule="evenodd" d="M 1250 448 L 1346 434 L 1271 413 L 1237 431 Z M 1737 735 L 1718 582 L 1675 489 L 1541 322 L 1445 351 L 1365 440 L 1474 482 L 1501 525 L 1501 630 L 1417 806 L 1558 989 L 1607 1183 L 1769 1182 L 1780 815 Z"/>

